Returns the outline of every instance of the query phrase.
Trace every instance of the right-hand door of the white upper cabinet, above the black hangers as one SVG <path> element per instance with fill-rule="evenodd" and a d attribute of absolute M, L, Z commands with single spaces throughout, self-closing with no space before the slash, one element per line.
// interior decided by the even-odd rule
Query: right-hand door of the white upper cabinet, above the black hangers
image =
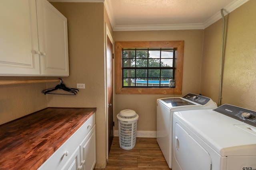
<path fill-rule="evenodd" d="M 69 76 L 67 19 L 47 0 L 36 0 L 42 76 Z"/>

